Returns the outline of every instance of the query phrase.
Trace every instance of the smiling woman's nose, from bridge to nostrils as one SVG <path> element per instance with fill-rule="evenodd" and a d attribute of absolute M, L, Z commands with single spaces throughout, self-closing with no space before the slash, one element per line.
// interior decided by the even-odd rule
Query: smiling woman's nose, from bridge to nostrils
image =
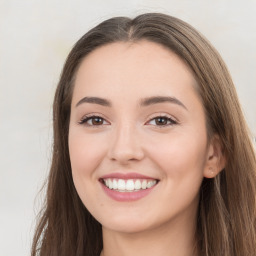
<path fill-rule="evenodd" d="M 141 136 L 135 127 L 123 125 L 113 130 L 108 157 L 123 165 L 144 158 Z"/>

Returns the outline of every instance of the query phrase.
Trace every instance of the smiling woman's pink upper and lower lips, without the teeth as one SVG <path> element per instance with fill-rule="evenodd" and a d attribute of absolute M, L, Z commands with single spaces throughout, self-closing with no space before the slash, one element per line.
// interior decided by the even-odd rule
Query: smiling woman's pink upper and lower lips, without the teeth
<path fill-rule="evenodd" d="M 104 185 L 102 182 L 103 179 L 123 179 L 123 180 L 129 180 L 129 179 L 147 179 L 147 180 L 155 180 L 155 178 L 141 175 L 138 173 L 111 173 L 104 175 L 100 178 L 100 183 L 103 188 L 103 191 L 112 199 L 119 201 L 119 202 L 128 202 L 128 201 L 135 201 L 139 200 L 145 196 L 147 196 L 154 188 L 155 186 L 139 190 L 139 191 L 133 191 L 133 192 L 119 192 L 117 190 L 109 189 Z"/>

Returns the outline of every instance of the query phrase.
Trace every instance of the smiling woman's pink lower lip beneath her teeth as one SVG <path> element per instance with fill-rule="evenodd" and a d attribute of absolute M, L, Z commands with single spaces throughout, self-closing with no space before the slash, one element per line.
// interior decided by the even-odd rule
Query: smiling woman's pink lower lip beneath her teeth
<path fill-rule="evenodd" d="M 120 202 L 128 202 L 128 201 L 136 201 L 147 196 L 155 188 L 156 185 L 154 185 L 151 188 L 134 191 L 134 192 L 119 192 L 116 190 L 109 189 L 102 183 L 101 183 L 101 186 L 105 191 L 105 193 L 112 199 Z"/>

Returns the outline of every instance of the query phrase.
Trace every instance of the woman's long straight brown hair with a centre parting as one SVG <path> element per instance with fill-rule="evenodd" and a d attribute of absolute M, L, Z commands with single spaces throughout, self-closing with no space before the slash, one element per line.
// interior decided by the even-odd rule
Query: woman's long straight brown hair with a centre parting
<path fill-rule="evenodd" d="M 256 251 L 256 159 L 229 72 L 210 43 L 187 23 L 159 13 L 116 17 L 86 33 L 64 65 L 53 105 L 54 143 L 45 205 L 32 256 L 95 256 L 101 225 L 81 202 L 68 151 L 70 105 L 76 71 L 94 49 L 112 42 L 148 40 L 175 52 L 193 71 L 207 118 L 208 136 L 218 134 L 226 166 L 200 190 L 197 241 L 202 256 L 254 256 Z"/>

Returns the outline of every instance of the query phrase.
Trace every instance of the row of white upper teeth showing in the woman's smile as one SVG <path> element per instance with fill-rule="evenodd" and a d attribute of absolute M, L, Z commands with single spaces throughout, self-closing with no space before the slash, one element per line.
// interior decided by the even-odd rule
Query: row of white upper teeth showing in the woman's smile
<path fill-rule="evenodd" d="M 157 183 L 156 180 L 123 180 L 123 179 L 104 179 L 104 184 L 109 189 L 119 192 L 138 191 L 153 187 Z"/>

